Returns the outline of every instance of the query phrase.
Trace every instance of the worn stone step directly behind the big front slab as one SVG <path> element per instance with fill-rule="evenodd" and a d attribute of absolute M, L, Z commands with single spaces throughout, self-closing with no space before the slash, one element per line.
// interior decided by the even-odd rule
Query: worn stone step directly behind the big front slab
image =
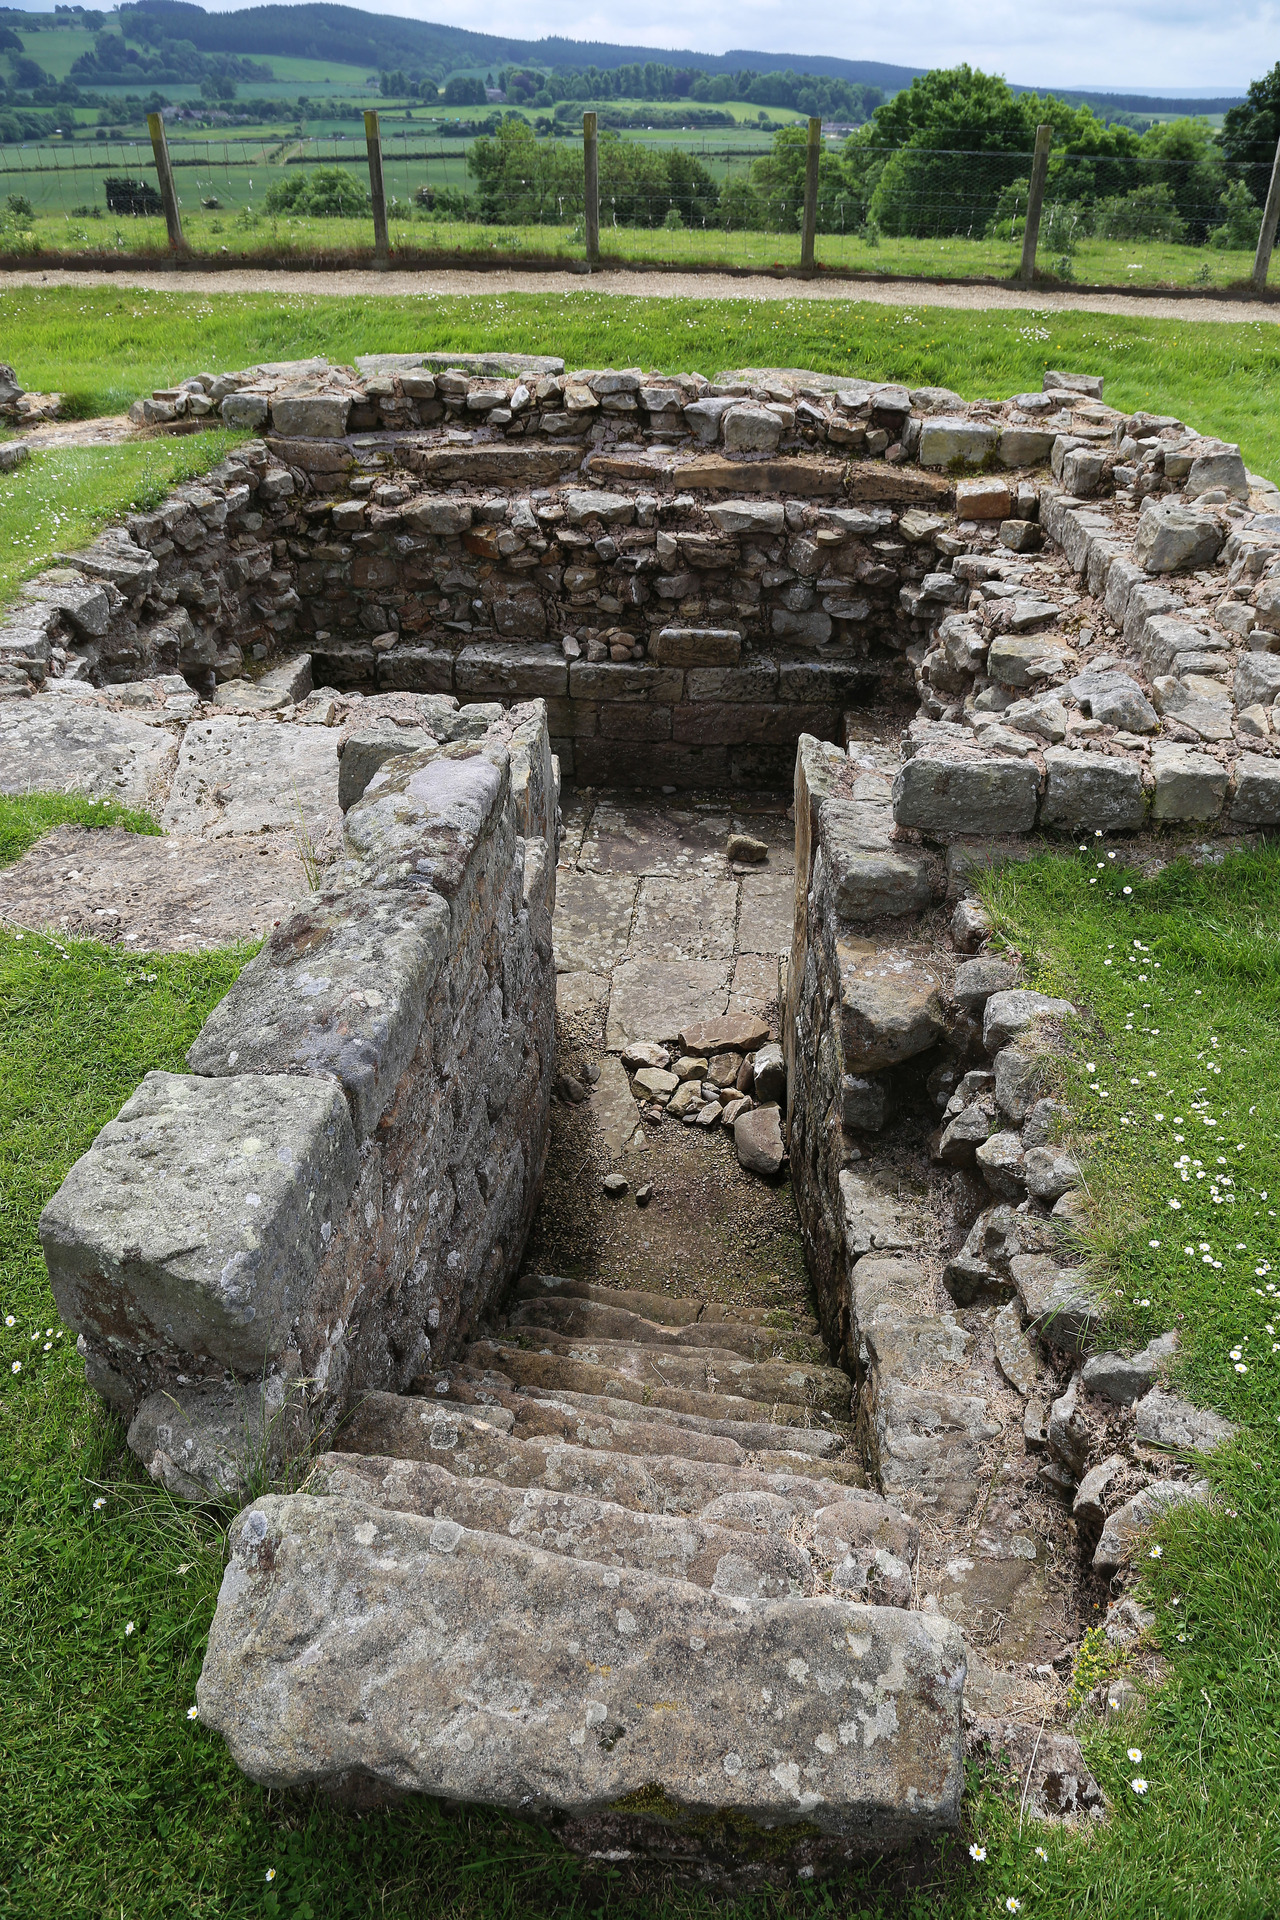
<path fill-rule="evenodd" d="M 581 1494 L 459 1480 L 424 1459 L 322 1453 L 305 1492 L 457 1521 L 476 1532 L 528 1540 L 545 1553 L 691 1580 L 739 1599 L 785 1599 L 818 1590 L 808 1553 L 781 1532 L 745 1534 L 693 1515 L 635 1513 Z M 829 1511 L 839 1517 L 844 1509 Z"/>

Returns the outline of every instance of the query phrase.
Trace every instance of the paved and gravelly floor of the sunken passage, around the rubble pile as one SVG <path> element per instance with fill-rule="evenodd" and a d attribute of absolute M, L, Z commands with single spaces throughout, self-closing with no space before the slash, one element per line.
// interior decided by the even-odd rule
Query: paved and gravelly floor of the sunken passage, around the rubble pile
<path fill-rule="evenodd" d="M 543 1202 L 526 1273 L 808 1311 L 791 1183 L 737 1164 L 731 1135 L 641 1119 L 618 1058 L 687 1020 L 758 1014 L 777 1035 L 793 912 L 789 795 L 679 799 L 566 787 L 557 876 L 558 1066 L 591 1085 L 553 1104 Z M 731 831 L 770 847 L 725 856 Z M 612 1200 L 603 1179 L 622 1171 Z M 635 1190 L 651 1187 L 647 1206 Z"/>

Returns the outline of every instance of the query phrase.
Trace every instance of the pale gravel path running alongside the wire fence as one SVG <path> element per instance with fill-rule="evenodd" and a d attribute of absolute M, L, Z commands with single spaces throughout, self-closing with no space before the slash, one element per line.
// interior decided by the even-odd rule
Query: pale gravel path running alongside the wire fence
<path fill-rule="evenodd" d="M 50 273 L 0 273 L 0 292 L 15 286 L 132 286 L 146 292 L 184 294 L 391 294 L 436 300 L 457 294 L 618 294 L 679 300 L 844 300 L 883 307 L 971 307 L 1034 313 L 1128 313 L 1155 321 L 1267 321 L 1280 323 L 1280 300 L 1213 300 L 1203 296 L 1050 294 L 1011 286 L 942 286 L 931 280 L 775 280 L 770 275 L 729 278 L 718 273 L 265 273 L 232 267 L 226 273 L 177 273 L 171 269 L 115 273 L 98 269 Z"/>

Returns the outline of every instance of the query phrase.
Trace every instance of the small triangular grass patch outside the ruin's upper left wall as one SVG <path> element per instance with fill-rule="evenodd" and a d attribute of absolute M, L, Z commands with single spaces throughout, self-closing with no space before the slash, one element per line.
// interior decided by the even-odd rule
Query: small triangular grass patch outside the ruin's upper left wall
<path fill-rule="evenodd" d="M 67 388 L 75 401 L 83 396 Z M 81 405 L 77 411 L 92 411 Z M 0 474 L 0 605 L 58 553 L 88 545 L 125 513 L 146 513 L 178 480 L 207 472 L 244 434 L 186 434 L 119 447 L 58 447 Z"/>

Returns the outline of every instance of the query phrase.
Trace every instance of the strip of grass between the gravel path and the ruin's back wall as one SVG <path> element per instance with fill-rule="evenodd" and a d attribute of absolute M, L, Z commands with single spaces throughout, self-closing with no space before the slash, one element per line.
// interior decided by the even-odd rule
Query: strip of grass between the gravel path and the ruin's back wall
<path fill-rule="evenodd" d="M 557 294 L 474 298 L 441 298 L 430 286 L 409 298 L 115 286 L 4 294 L 4 351 L 19 380 L 75 394 L 92 413 L 123 411 L 138 394 L 198 371 L 426 348 L 562 353 L 570 367 L 708 374 L 814 367 L 950 386 L 965 399 L 1040 388 L 1046 367 L 1075 367 L 1105 374 L 1117 407 L 1178 413 L 1201 432 L 1240 442 L 1249 467 L 1280 478 L 1280 330 L 1259 323 L 852 300 L 624 300 L 574 280 Z"/>

